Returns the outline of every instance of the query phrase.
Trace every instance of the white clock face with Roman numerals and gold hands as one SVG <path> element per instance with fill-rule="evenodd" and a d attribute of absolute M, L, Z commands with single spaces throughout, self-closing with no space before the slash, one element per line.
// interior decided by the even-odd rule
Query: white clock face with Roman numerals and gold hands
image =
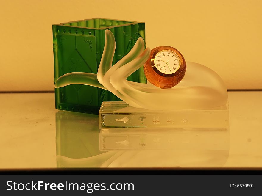
<path fill-rule="evenodd" d="M 154 64 L 161 73 L 172 74 L 179 69 L 180 59 L 173 51 L 162 50 L 156 54 Z"/>

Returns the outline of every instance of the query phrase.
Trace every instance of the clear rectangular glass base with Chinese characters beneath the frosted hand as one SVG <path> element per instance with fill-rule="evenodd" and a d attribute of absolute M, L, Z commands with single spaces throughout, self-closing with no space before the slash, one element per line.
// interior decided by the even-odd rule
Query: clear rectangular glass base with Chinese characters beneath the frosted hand
<path fill-rule="evenodd" d="M 228 128 L 226 105 L 195 110 L 146 110 L 123 101 L 103 102 L 99 110 L 99 128 Z"/>

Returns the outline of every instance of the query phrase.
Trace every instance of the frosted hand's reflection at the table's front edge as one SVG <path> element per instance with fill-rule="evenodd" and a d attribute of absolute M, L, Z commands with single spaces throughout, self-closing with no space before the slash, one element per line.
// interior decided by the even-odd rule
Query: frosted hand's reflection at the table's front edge
<path fill-rule="evenodd" d="M 80 159 L 57 155 L 66 168 L 221 167 L 227 158 L 228 150 L 113 150 Z"/>

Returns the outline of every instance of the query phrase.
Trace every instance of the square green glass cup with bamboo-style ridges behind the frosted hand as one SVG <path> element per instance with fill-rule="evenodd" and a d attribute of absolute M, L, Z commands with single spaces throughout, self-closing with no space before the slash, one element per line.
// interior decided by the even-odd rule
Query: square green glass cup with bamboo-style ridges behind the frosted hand
<path fill-rule="evenodd" d="M 97 73 L 105 45 L 105 30 L 116 40 L 113 65 L 124 57 L 139 37 L 145 43 L 145 23 L 93 18 L 53 25 L 54 81 L 71 72 Z M 146 83 L 143 68 L 127 78 Z M 121 101 L 111 92 L 73 84 L 55 89 L 57 109 L 98 114 L 103 101 Z"/>

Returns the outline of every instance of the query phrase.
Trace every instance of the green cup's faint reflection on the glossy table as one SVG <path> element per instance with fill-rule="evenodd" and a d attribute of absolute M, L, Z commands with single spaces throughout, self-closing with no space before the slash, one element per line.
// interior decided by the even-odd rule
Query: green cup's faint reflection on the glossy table
<path fill-rule="evenodd" d="M 57 155 L 73 159 L 100 154 L 98 116 L 75 112 L 56 113 Z M 63 167 L 57 162 L 57 167 Z"/>

